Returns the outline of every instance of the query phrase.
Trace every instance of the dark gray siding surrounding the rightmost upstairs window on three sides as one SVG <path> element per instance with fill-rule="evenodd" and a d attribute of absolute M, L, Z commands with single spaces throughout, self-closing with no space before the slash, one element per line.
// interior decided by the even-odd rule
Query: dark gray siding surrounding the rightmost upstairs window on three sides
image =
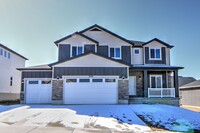
<path fill-rule="evenodd" d="M 161 60 L 150 60 L 149 47 L 145 47 L 145 64 L 166 64 L 166 48 L 161 48 L 162 59 Z"/>

